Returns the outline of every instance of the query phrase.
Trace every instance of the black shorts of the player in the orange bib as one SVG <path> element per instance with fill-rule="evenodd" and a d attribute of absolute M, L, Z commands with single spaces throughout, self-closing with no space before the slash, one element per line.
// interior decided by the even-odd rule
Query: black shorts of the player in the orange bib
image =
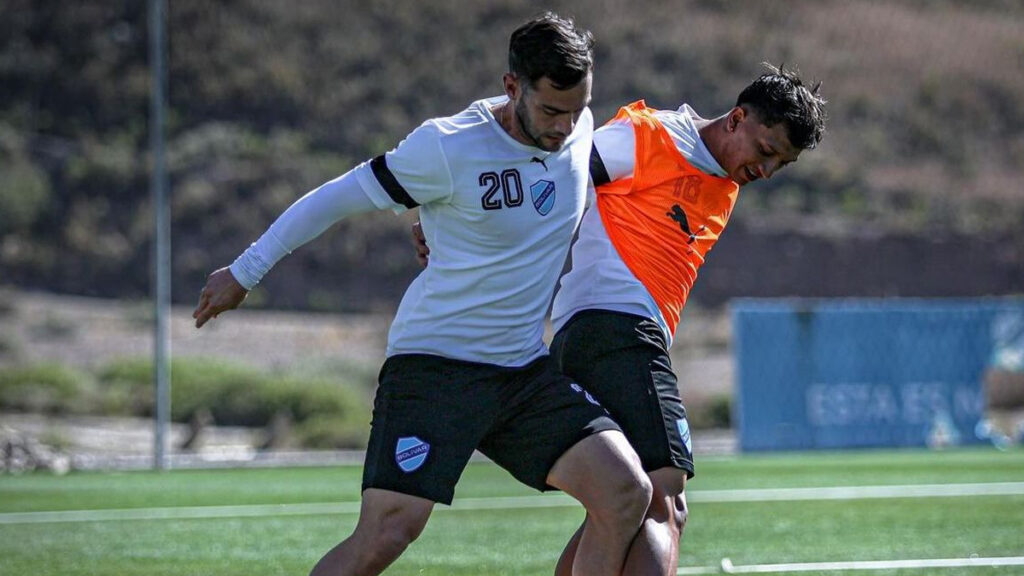
<path fill-rule="evenodd" d="M 665 334 L 652 320 L 588 310 L 555 334 L 551 355 L 618 422 L 647 471 L 671 466 L 693 477 L 686 409 Z"/>

